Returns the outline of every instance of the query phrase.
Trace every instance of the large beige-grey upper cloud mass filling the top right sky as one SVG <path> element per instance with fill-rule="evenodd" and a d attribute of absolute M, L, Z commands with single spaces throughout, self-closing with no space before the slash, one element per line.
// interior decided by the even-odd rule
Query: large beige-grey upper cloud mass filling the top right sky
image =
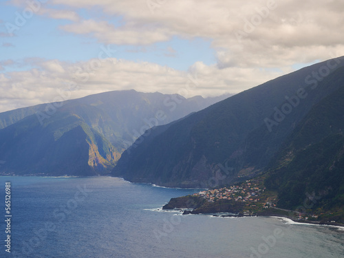
<path fill-rule="evenodd" d="M 53 3 L 72 8 L 98 6 L 107 14 L 123 17 L 120 27 L 93 20 L 61 27 L 105 43 L 147 45 L 175 35 L 211 39 L 221 67 L 278 67 L 332 57 L 328 51 L 319 53 L 321 48 L 343 51 L 341 0 L 177 0 L 153 1 L 150 6 L 151 1 L 136 0 Z M 238 36 L 240 32 L 244 36 Z"/>

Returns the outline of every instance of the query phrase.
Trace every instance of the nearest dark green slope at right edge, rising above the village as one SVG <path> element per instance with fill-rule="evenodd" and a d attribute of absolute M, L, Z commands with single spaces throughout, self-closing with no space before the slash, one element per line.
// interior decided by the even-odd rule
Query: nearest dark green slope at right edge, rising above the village
<path fill-rule="evenodd" d="M 307 200 L 311 208 L 343 213 L 343 99 L 344 83 L 314 106 L 270 162 L 265 184 L 279 191 L 280 207 L 297 208 Z"/>

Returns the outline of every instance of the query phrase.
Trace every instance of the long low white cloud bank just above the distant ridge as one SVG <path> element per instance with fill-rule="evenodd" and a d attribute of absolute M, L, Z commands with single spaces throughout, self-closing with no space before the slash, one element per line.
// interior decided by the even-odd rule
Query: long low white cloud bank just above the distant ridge
<path fill-rule="evenodd" d="M 154 63 L 136 63 L 117 58 L 79 63 L 41 59 L 31 61 L 36 68 L 0 74 L 0 111 L 52 102 L 59 96 L 58 90 L 70 91 L 70 98 L 123 89 L 178 93 L 186 98 L 197 95 L 206 97 L 237 93 L 255 86 L 257 81 L 263 83 L 272 76 L 263 70 L 239 67 L 218 69 L 215 65 L 208 66 L 202 62 L 195 63 L 188 72 L 183 72 Z M 257 77 L 246 76 L 252 73 Z"/>

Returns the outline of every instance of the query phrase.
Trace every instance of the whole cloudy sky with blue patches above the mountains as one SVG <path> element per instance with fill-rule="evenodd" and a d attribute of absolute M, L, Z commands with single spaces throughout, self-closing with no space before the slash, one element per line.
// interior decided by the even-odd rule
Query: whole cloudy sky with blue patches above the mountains
<path fill-rule="evenodd" d="M 344 54 L 343 0 L 0 1 L 0 112 L 111 90 L 236 94 Z"/>

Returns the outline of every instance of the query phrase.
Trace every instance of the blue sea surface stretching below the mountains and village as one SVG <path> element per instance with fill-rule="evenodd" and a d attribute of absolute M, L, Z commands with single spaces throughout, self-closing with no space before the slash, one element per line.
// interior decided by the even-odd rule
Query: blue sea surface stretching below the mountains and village
<path fill-rule="evenodd" d="M 6 242 L 5 182 L 11 182 L 11 253 L 55 258 L 343 258 L 344 230 L 277 217 L 211 217 L 158 210 L 197 189 L 120 178 L 0 177 L 0 239 Z"/>

